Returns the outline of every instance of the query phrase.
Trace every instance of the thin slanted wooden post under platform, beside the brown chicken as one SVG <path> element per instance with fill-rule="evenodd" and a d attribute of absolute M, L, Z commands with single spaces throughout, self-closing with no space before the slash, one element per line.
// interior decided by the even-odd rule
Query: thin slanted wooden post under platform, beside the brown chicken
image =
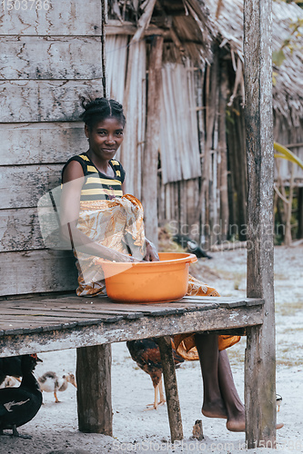
<path fill-rule="evenodd" d="M 171 442 L 183 439 L 181 410 L 177 394 L 176 369 L 169 336 L 158 338 L 157 344 L 160 349 L 163 367 L 163 378 L 167 396 L 167 412 L 170 427 Z"/>

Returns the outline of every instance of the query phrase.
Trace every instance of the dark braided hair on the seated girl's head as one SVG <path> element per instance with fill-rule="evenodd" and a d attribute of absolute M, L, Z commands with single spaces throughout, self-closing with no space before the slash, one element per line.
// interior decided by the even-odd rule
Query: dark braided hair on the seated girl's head
<path fill-rule="evenodd" d="M 114 99 L 82 97 L 81 105 L 85 109 L 80 118 L 92 129 L 97 122 L 102 122 L 108 117 L 114 117 L 123 127 L 126 117 L 123 114 L 122 104 Z"/>

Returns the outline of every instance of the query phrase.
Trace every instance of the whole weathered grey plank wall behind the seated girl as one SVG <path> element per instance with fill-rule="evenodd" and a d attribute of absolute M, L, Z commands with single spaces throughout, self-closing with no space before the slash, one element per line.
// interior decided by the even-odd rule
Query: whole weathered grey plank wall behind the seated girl
<path fill-rule="evenodd" d="M 0 295 L 76 287 L 71 252 L 45 249 L 39 198 L 86 151 L 78 96 L 101 93 L 101 3 L 49 0 L 0 25 Z"/>

